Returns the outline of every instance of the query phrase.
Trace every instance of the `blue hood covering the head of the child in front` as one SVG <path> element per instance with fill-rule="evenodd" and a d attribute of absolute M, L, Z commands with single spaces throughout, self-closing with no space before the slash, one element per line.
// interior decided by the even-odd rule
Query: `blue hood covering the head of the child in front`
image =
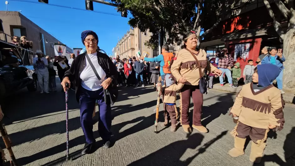
<path fill-rule="evenodd" d="M 257 65 L 258 85 L 267 87 L 279 76 L 280 68 L 273 64 Z"/>

